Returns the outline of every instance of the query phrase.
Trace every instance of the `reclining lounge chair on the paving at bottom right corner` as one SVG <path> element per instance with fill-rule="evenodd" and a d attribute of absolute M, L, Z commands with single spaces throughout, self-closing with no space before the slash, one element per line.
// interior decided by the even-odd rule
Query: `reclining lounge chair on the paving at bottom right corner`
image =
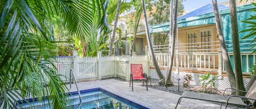
<path fill-rule="evenodd" d="M 231 88 L 228 88 L 228 89 L 231 89 Z M 224 90 L 224 93 L 226 90 L 227 89 Z M 241 91 L 237 89 L 234 89 L 234 90 Z M 241 91 L 241 92 L 246 92 L 246 91 Z M 180 104 L 182 98 L 220 102 L 221 108 L 222 108 L 222 104 L 226 104 L 225 108 L 227 108 L 228 105 L 252 107 L 255 105 L 255 100 L 256 100 L 256 81 L 254 81 L 252 87 L 248 90 L 245 97 L 239 96 L 239 95 L 228 96 L 228 95 L 224 95 L 224 93 L 223 95 L 217 95 L 217 94 L 185 91 L 182 93 L 180 99 L 178 99 L 175 109 L 177 108 L 178 104 Z M 248 100 L 249 104 L 245 104 L 243 100 Z"/>

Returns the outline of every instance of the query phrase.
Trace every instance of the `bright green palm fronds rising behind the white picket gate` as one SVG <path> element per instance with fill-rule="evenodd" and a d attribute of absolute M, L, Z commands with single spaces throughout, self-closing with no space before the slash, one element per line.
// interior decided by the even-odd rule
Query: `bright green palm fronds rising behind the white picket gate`
<path fill-rule="evenodd" d="M 104 46 L 104 43 L 106 43 L 98 42 L 98 40 L 100 37 L 105 39 L 104 36 L 109 34 L 109 25 L 106 20 L 108 2 L 107 0 L 94 0 L 78 1 L 75 3 L 76 5 L 72 8 L 74 10 L 66 16 L 69 20 L 73 20 L 73 22 L 67 23 L 66 25 L 75 39 L 75 46 L 79 49 L 79 54 L 90 56 L 95 51 L 98 51 L 100 46 Z M 75 13 L 72 13 L 73 11 Z M 98 44 L 96 46 L 96 44 L 92 43 Z M 93 48 L 93 53 L 88 48 Z"/>

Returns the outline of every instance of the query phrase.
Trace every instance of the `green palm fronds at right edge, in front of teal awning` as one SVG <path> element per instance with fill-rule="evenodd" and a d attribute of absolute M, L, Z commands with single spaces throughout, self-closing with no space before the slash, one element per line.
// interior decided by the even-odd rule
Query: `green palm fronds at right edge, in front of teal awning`
<path fill-rule="evenodd" d="M 252 4 L 256 7 L 256 3 L 252 3 Z M 251 11 L 256 12 L 256 9 L 252 9 Z M 242 39 L 253 38 L 252 43 L 256 41 L 256 37 L 255 37 L 255 35 L 256 35 L 256 22 L 255 22 L 255 20 L 256 20 L 256 16 L 251 15 L 251 17 L 248 18 L 247 20 L 241 21 L 241 22 L 250 24 L 250 25 L 247 26 L 247 29 L 240 31 L 240 33 L 246 33 L 246 32 L 249 33 L 248 35 L 244 36 Z M 256 46 L 254 46 L 253 48 L 255 48 L 255 47 Z M 253 51 L 253 53 L 255 53 L 255 52 L 256 52 L 256 49 Z"/>

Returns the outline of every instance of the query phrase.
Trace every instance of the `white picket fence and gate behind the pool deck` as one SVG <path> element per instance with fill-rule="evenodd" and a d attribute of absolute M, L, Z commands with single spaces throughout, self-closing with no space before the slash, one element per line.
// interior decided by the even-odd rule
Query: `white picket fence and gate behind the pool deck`
<path fill-rule="evenodd" d="M 53 62 L 63 81 L 69 82 L 70 69 L 78 81 L 101 80 L 107 78 L 123 78 L 127 81 L 130 76 L 130 64 L 141 63 L 143 71 L 150 74 L 148 56 L 102 56 L 98 52 L 97 57 L 74 56 L 56 57 Z"/>

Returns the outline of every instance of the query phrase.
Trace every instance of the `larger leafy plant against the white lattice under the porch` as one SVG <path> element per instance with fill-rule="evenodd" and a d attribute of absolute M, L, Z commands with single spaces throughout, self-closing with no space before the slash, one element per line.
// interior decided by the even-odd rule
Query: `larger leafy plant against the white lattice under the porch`
<path fill-rule="evenodd" d="M 202 88 L 203 92 L 207 92 L 207 87 L 215 87 L 215 80 L 218 78 L 218 75 L 211 75 L 210 73 L 201 75 L 201 81 L 203 81 Z"/>

